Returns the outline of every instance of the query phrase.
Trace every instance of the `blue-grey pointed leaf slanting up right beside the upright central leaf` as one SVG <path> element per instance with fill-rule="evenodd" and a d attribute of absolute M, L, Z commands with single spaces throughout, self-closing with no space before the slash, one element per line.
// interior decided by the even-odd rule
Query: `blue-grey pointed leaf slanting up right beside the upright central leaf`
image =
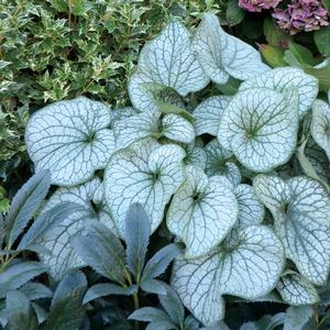
<path fill-rule="evenodd" d="M 169 244 L 157 251 L 154 256 L 146 263 L 142 278 L 153 279 L 163 274 L 169 263 L 182 253 L 177 244 Z"/>

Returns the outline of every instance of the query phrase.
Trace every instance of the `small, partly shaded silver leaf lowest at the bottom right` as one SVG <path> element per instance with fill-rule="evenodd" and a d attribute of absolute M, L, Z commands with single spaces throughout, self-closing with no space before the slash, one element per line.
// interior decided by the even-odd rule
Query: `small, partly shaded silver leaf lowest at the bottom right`
<path fill-rule="evenodd" d="M 295 272 L 283 275 L 277 283 L 276 289 L 283 301 L 290 306 L 315 305 L 320 300 L 315 286 Z"/>

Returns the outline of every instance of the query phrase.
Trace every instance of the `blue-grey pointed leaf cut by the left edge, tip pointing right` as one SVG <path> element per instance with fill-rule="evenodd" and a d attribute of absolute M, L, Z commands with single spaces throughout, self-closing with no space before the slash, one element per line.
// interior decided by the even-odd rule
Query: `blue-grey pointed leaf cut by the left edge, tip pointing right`
<path fill-rule="evenodd" d="M 47 268 L 37 262 L 21 262 L 9 266 L 0 274 L 0 298 L 3 298 L 8 290 L 19 288 L 46 271 Z"/>

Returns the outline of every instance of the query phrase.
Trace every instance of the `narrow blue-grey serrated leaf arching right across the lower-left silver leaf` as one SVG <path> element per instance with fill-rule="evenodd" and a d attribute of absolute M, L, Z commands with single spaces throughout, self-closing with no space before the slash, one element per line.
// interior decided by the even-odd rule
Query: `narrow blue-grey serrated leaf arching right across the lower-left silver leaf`
<path fill-rule="evenodd" d="M 48 231 L 58 226 L 72 213 L 85 210 L 81 205 L 74 202 L 62 202 L 51 210 L 42 213 L 30 227 L 21 240 L 18 250 L 30 250 L 35 251 L 35 243 L 43 238 Z"/>

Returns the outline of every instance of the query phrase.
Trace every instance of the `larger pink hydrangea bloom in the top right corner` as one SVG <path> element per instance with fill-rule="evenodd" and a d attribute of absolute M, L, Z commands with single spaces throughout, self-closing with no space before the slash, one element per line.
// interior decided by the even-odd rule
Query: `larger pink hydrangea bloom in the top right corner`
<path fill-rule="evenodd" d="M 286 9 L 276 8 L 274 11 L 278 26 L 290 34 L 329 25 L 328 12 L 317 0 L 295 0 Z"/>

